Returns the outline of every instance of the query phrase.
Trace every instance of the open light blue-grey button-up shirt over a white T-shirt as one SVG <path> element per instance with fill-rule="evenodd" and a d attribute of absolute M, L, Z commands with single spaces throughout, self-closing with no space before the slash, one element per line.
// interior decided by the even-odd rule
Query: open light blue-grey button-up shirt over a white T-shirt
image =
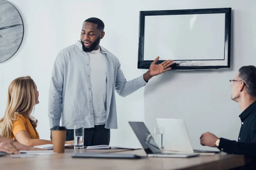
<path fill-rule="evenodd" d="M 117 128 L 115 90 L 128 96 L 146 82 L 143 75 L 127 81 L 120 62 L 111 52 L 100 46 L 107 59 L 106 128 Z M 67 129 L 74 125 L 94 127 L 90 57 L 82 50 L 80 41 L 62 49 L 54 62 L 49 87 L 48 116 L 50 128 L 60 119 Z"/>

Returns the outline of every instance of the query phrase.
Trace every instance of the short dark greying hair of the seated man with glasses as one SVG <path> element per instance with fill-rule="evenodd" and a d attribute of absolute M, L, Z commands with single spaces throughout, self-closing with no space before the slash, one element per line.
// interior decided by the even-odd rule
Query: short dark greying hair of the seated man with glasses
<path fill-rule="evenodd" d="M 241 67 L 239 69 L 239 77 L 244 81 L 247 93 L 256 97 L 256 67 L 253 65 Z"/>

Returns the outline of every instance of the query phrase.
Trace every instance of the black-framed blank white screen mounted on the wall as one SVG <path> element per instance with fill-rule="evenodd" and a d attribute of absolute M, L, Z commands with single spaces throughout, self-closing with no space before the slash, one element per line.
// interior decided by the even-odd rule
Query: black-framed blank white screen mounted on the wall
<path fill-rule="evenodd" d="M 230 68 L 231 8 L 140 11 L 138 68 L 174 59 L 172 70 Z"/>

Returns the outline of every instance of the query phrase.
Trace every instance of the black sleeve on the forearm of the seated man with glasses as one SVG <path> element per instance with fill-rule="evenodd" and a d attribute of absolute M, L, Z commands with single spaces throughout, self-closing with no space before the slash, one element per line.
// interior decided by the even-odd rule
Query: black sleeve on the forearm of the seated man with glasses
<path fill-rule="evenodd" d="M 239 154 L 256 158 L 256 142 L 236 142 L 221 138 L 218 149 L 229 154 Z"/>

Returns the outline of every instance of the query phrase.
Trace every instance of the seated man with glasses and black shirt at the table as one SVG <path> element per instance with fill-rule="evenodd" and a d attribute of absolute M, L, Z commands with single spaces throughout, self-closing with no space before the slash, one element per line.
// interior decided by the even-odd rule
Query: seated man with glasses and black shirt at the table
<path fill-rule="evenodd" d="M 200 142 L 204 146 L 218 147 L 226 153 L 242 154 L 256 160 L 256 67 L 253 65 L 241 67 L 236 77 L 230 80 L 230 86 L 231 99 L 238 102 L 242 111 L 239 115 L 241 129 L 238 142 L 218 138 L 209 132 L 201 135 Z"/>

